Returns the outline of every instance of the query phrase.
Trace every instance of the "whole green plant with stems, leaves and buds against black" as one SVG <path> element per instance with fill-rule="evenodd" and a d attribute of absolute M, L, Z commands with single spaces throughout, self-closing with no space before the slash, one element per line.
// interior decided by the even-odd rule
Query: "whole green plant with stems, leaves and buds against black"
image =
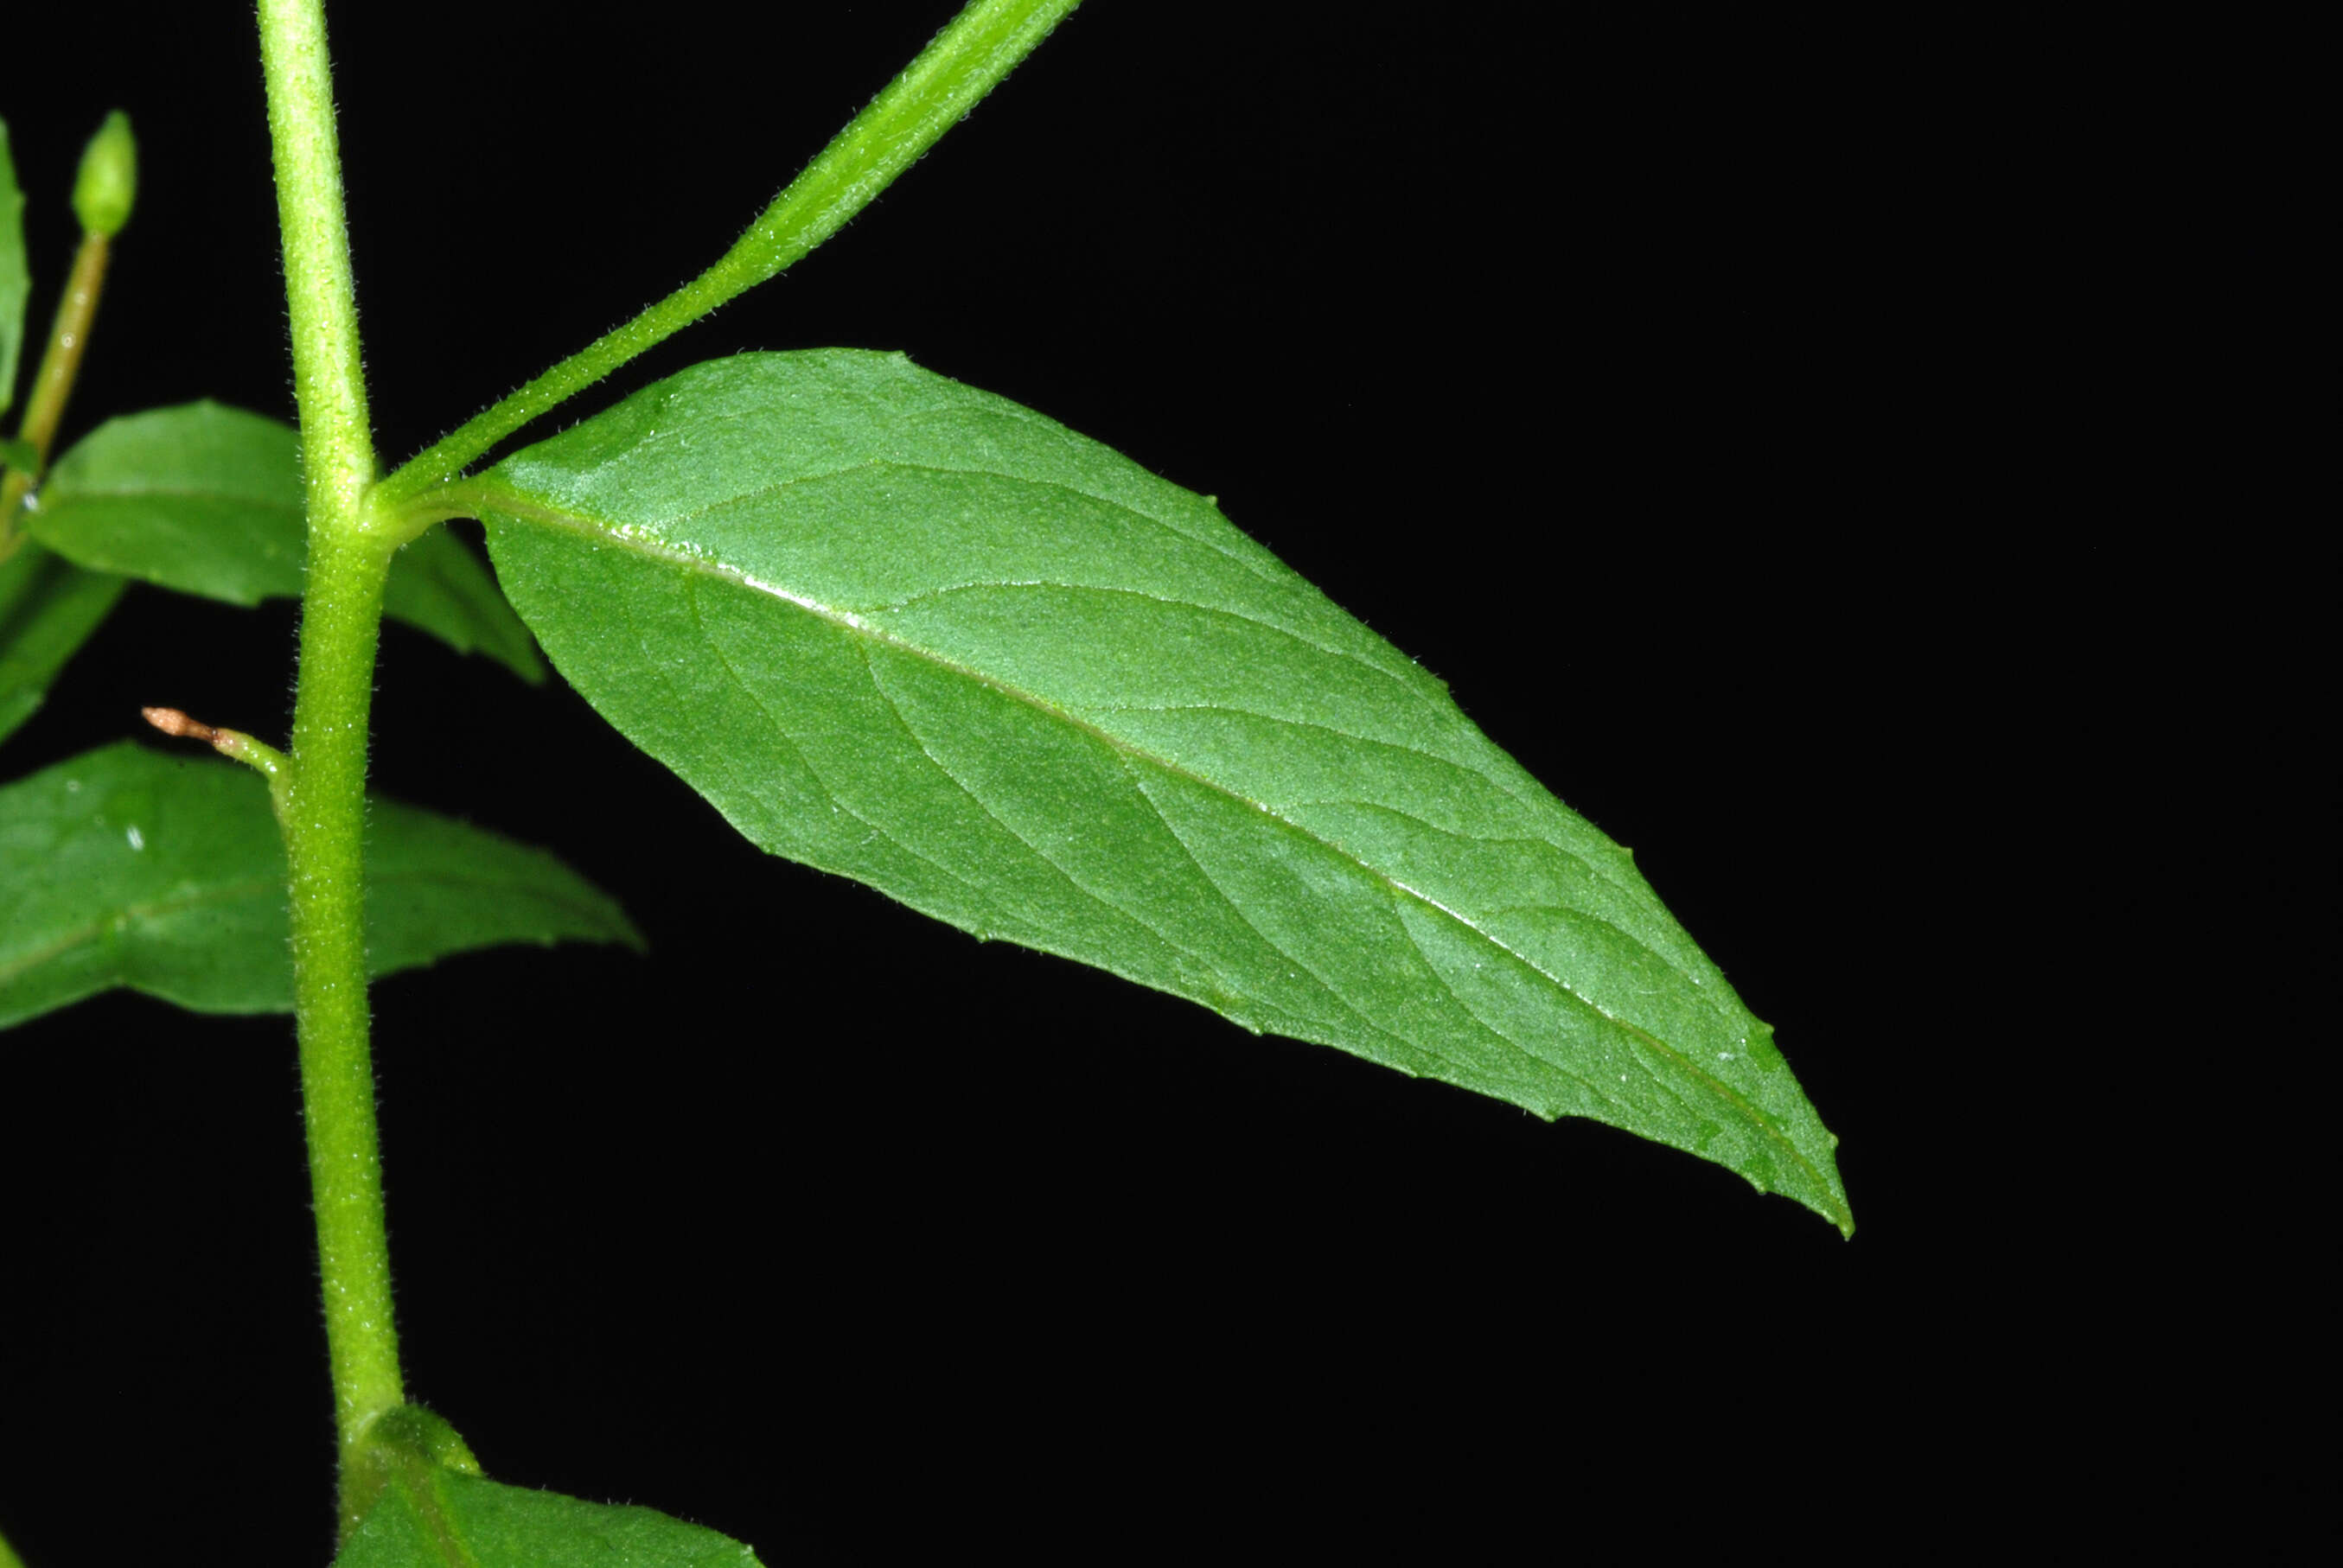
<path fill-rule="evenodd" d="M 384 614 L 530 682 L 551 661 L 771 853 L 1256 1034 L 1706 1155 L 1851 1230 L 1771 1031 L 1626 851 L 1209 497 L 855 349 L 715 359 L 478 466 L 834 234 L 1073 5 L 970 5 L 703 277 L 387 473 L 319 0 L 258 7 L 298 434 L 190 403 L 52 459 L 134 204 L 129 122 L 84 157 L 82 248 L 5 450 L 0 738 L 129 579 L 300 595 L 298 701 L 284 750 L 157 708 L 225 759 L 122 741 L 0 785 L 0 1024 L 112 987 L 295 1015 L 340 1563 L 747 1559 L 649 1509 L 499 1486 L 405 1402 L 368 980 L 637 935 L 551 855 L 366 799 Z M 0 129 L 0 408 L 21 206 Z M 494 577 L 452 518 L 485 525 Z"/>

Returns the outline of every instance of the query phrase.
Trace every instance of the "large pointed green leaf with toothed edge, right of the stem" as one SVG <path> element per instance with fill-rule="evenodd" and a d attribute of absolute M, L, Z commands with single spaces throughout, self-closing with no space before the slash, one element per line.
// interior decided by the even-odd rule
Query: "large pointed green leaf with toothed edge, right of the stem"
<path fill-rule="evenodd" d="M 1626 851 L 1211 502 L 860 352 L 684 370 L 478 497 L 553 663 L 757 844 L 1851 1226 Z"/>

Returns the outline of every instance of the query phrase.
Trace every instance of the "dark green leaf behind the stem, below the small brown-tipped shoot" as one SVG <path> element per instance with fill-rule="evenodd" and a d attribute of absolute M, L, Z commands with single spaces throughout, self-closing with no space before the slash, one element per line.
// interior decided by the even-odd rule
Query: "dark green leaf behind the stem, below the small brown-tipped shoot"
<path fill-rule="evenodd" d="M 368 825 L 375 975 L 501 942 L 642 942 L 541 848 L 382 799 Z M 286 942 L 286 855 L 258 773 L 124 741 L 0 788 L 0 1027 L 112 987 L 284 1013 Z"/>

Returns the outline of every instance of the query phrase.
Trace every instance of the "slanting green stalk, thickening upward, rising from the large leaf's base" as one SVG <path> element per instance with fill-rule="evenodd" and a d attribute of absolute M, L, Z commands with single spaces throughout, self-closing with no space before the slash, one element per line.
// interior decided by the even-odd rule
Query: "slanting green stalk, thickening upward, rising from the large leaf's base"
<path fill-rule="evenodd" d="M 836 234 L 998 87 L 1075 5 L 1080 0 L 975 0 L 773 197 L 717 265 L 419 452 L 382 480 L 380 504 L 398 509 L 445 485 L 530 420 Z"/>

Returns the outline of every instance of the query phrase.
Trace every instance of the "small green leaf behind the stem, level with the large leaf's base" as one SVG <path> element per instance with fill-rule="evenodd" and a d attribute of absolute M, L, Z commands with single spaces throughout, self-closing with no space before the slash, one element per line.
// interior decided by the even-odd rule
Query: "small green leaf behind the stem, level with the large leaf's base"
<path fill-rule="evenodd" d="M 56 459 L 33 534 L 68 560 L 230 605 L 302 586 L 300 436 L 225 403 L 108 420 Z M 527 628 L 462 539 L 436 527 L 391 563 L 384 614 L 544 680 Z"/>

